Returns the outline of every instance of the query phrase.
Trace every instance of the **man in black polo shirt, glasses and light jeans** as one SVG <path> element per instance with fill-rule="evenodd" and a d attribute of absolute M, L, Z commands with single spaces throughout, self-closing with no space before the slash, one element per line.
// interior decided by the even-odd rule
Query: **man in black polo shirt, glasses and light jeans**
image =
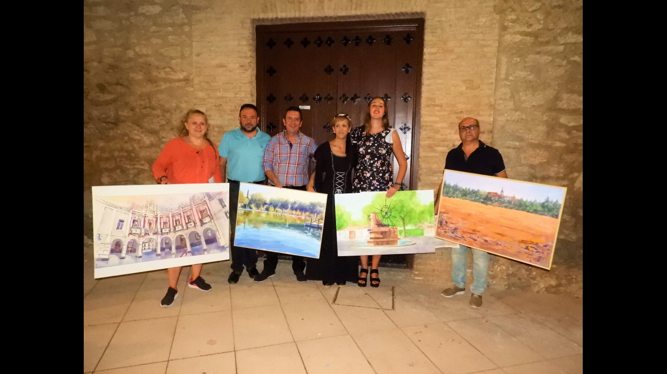
<path fill-rule="evenodd" d="M 507 178 L 505 163 L 498 149 L 490 147 L 480 140 L 480 121 L 472 117 L 466 117 L 459 123 L 458 132 L 461 143 L 447 153 L 445 169 Z M 435 202 L 436 215 L 438 215 L 441 194 L 442 183 Z M 465 245 L 452 248 L 452 281 L 454 281 L 454 285 L 442 291 L 444 297 L 466 293 L 466 249 L 468 248 L 470 247 Z M 470 285 L 470 292 L 472 293 L 470 306 L 478 308 L 482 306 L 482 295 L 486 290 L 486 275 L 489 271 L 491 255 L 479 249 L 470 249 L 472 251 L 473 278 Z"/>

